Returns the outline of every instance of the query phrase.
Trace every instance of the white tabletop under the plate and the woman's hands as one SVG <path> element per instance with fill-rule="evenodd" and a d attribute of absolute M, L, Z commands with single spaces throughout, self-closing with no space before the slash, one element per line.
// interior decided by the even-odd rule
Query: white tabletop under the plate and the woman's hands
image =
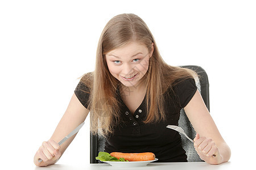
<path fill-rule="evenodd" d="M 249 164 L 243 164 L 243 163 L 233 163 L 233 162 L 226 162 L 222 163 L 219 165 L 210 165 L 208 163 L 150 163 L 144 167 L 113 167 L 112 165 L 109 164 L 84 164 L 84 165 L 65 165 L 65 164 L 55 164 L 55 165 L 50 165 L 48 167 L 35 167 L 34 170 L 46 170 L 46 169 L 62 169 L 62 170 L 81 170 L 81 169 L 88 169 L 88 170 L 94 170 L 94 169 L 156 169 L 156 170 L 174 170 L 174 169 L 179 169 L 179 170 L 185 170 L 185 169 L 204 169 L 204 170 L 228 170 L 228 169 L 241 169 L 241 168 L 246 168 L 246 167 L 251 167 L 253 168 L 254 166 L 251 166 Z"/>

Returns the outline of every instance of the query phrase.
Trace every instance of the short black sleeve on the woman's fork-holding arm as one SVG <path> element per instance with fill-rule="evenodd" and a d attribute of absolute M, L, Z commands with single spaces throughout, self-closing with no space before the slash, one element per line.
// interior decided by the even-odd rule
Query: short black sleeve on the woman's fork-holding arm
<path fill-rule="evenodd" d="M 184 108 L 192 97 L 195 95 L 197 90 L 195 79 L 189 78 L 185 79 L 176 85 L 175 91 L 178 96 L 179 103 L 182 108 Z"/>

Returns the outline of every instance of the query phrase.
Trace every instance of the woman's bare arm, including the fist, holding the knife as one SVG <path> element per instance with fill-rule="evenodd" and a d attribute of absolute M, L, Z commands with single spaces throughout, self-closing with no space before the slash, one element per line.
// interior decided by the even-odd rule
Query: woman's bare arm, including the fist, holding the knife
<path fill-rule="evenodd" d="M 89 110 L 86 109 L 79 99 L 77 99 L 76 95 L 73 94 L 71 101 L 68 104 L 67 111 L 65 111 L 65 114 L 57 125 L 51 139 L 47 142 L 43 142 L 42 146 L 40 146 L 39 150 L 36 152 L 34 156 L 34 164 L 40 167 L 55 164 L 76 135 L 68 138 L 61 147 L 59 143 L 56 143 L 55 141 L 60 141 L 65 135 L 84 122 L 88 113 Z M 43 161 L 38 162 L 38 159 L 42 159 Z"/>

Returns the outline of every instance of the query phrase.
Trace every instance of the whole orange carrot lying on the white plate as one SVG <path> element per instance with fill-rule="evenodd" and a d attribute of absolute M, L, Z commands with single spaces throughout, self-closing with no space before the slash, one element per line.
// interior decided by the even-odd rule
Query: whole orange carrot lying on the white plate
<path fill-rule="evenodd" d="M 145 161 L 145 160 L 155 160 L 155 154 L 152 152 L 142 152 L 142 153 L 122 153 L 122 152 L 112 152 L 111 156 L 115 158 L 125 158 L 129 161 Z"/>

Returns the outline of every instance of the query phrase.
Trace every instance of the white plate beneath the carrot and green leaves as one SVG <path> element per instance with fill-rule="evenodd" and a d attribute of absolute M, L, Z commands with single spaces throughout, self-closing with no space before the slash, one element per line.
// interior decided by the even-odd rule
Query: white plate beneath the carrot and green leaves
<path fill-rule="evenodd" d="M 144 167 L 147 164 L 154 162 L 158 160 L 155 158 L 155 160 L 147 160 L 147 161 L 130 161 L 130 162 L 115 162 L 115 161 L 104 161 L 105 163 L 108 163 L 112 165 L 113 167 Z"/>

